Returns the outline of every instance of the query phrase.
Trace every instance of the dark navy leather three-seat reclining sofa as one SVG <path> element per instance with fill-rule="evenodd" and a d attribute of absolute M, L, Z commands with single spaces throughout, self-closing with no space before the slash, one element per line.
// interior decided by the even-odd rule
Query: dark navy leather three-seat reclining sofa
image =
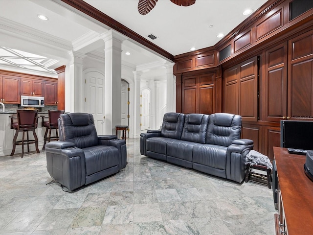
<path fill-rule="evenodd" d="M 167 113 L 161 130 L 141 133 L 140 153 L 242 182 L 253 141 L 240 139 L 241 126 L 239 115 Z"/>

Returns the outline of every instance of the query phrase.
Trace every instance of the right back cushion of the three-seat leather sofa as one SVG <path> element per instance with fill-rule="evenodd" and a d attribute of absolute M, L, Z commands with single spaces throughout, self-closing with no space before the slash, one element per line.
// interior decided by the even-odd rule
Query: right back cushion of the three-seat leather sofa
<path fill-rule="evenodd" d="M 240 139 L 242 119 L 239 115 L 211 114 L 206 133 L 206 143 L 228 147 Z"/>

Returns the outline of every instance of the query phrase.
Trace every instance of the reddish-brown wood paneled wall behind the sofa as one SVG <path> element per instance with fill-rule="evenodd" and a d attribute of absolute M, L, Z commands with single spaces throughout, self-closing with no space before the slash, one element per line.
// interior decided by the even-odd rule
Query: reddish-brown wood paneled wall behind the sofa
<path fill-rule="evenodd" d="M 176 56 L 177 112 L 239 114 L 242 138 L 273 159 L 281 119 L 313 120 L 313 8 L 291 17 L 291 2 L 302 7 L 269 0 L 214 47 Z M 201 76 L 214 72 L 201 96 Z"/>

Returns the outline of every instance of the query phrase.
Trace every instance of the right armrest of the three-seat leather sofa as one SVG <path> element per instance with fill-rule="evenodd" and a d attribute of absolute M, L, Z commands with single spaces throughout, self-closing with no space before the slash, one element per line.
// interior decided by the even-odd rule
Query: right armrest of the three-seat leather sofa
<path fill-rule="evenodd" d="M 227 148 L 226 156 L 226 179 L 238 183 L 245 179 L 246 155 L 253 148 L 253 141 L 240 139 L 233 141 Z"/>

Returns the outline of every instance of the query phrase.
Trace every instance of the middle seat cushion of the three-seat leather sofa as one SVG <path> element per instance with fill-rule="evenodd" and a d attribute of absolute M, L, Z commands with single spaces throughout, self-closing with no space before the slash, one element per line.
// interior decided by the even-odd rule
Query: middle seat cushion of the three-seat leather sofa
<path fill-rule="evenodd" d="M 183 159 L 186 161 L 192 161 L 192 152 L 195 145 L 201 143 L 190 141 L 173 141 L 167 144 L 166 152 L 167 156 Z"/>

